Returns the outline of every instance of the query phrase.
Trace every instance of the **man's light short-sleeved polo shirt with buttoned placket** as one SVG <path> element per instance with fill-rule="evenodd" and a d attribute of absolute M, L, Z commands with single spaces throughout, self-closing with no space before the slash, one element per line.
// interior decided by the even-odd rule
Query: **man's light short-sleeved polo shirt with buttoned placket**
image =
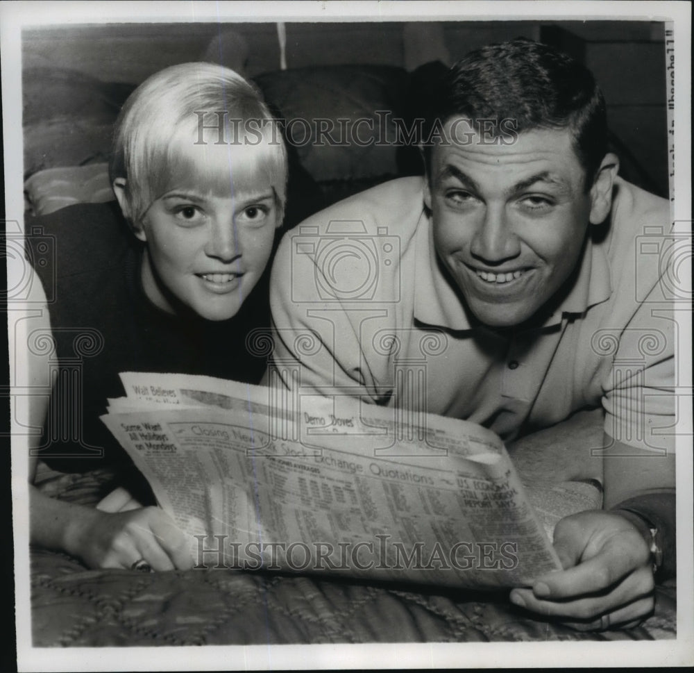
<path fill-rule="evenodd" d="M 282 240 L 273 370 L 302 394 L 469 419 L 505 441 L 602 406 L 612 438 L 668 446 L 675 324 L 658 250 L 669 219 L 665 199 L 618 178 L 573 285 L 532 329 L 495 330 L 439 264 L 423 178 L 379 185 Z"/>

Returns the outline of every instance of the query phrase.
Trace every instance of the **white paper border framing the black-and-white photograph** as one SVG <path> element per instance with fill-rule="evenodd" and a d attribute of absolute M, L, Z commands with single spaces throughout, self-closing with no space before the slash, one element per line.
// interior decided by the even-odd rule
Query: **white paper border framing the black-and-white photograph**
<path fill-rule="evenodd" d="M 6 220 L 22 222 L 22 82 L 23 26 L 61 26 L 109 22 L 378 22 L 514 19 L 618 19 L 673 22 L 675 110 L 675 194 L 672 219 L 691 231 L 691 6 L 680 1 L 566 2 L 9 2 L 1 3 L 2 92 Z M 669 87 L 668 81 L 668 87 Z M 675 143 L 675 138 L 677 142 Z M 8 224 L 8 226 L 10 226 Z M 685 269 L 686 272 L 686 269 Z M 691 267 L 688 269 L 691 272 Z M 8 260 L 8 274 L 12 266 Z M 688 278 L 691 287 L 691 277 Z M 8 277 L 8 287 L 11 278 Z M 11 312 L 10 312 L 11 313 Z M 692 342 L 691 313 L 680 317 L 681 344 Z M 10 356 L 12 342 L 10 341 Z M 691 360 L 679 354 L 679 381 L 691 391 Z M 19 360 L 17 361 L 19 363 Z M 15 545 L 17 664 L 22 671 L 74 670 L 288 670 L 362 667 L 556 667 L 561 665 L 691 665 L 694 596 L 692 578 L 692 406 L 683 401 L 678 426 L 678 613 L 676 640 L 657 642 L 495 642 L 421 645 L 249 645 L 229 647 L 34 648 L 31 646 L 28 556 L 28 451 L 22 437 L 12 441 L 12 523 Z M 12 420 L 14 423 L 14 420 Z"/>

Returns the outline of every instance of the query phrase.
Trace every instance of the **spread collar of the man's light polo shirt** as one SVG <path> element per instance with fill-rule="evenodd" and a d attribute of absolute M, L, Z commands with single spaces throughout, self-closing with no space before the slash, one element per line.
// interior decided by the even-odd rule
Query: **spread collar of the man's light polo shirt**
<path fill-rule="evenodd" d="M 416 233 L 414 317 L 423 324 L 452 331 L 473 329 L 474 318 L 449 281 L 434 249 L 431 217 L 422 213 Z M 610 267 L 602 245 L 589 236 L 573 287 L 561 304 L 548 315 L 543 326 L 561 322 L 564 313 L 584 313 L 609 299 L 612 292 Z"/>

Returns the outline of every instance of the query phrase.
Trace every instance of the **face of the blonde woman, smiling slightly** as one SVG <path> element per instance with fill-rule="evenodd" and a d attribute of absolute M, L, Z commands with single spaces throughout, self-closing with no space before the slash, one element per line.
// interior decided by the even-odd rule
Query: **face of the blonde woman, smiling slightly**
<path fill-rule="evenodd" d="M 205 147 L 202 165 L 178 171 L 135 225 L 146 243 L 144 292 L 168 313 L 229 319 L 269 261 L 280 225 L 276 191 L 233 158 L 228 147 Z"/>

